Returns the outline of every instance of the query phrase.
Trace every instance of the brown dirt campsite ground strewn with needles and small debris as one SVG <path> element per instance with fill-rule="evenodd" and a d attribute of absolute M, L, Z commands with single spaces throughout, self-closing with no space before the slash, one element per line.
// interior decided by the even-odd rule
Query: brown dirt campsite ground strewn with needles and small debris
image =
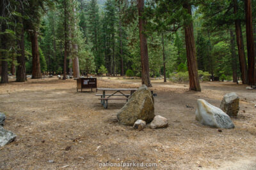
<path fill-rule="evenodd" d="M 95 90 L 76 92 L 74 80 L 0 85 L 4 128 L 17 134 L 0 148 L 0 169 L 100 169 L 100 162 L 157 163 L 153 169 L 256 169 L 256 90 L 232 82 L 201 83 L 202 92 L 163 80 L 152 85 L 155 114 L 168 118 L 169 127 L 143 131 L 118 124 L 116 113 L 124 101 L 110 101 L 106 110 Z M 100 78 L 98 87 L 136 88 L 140 80 Z M 240 97 L 238 117 L 232 118 L 235 129 L 218 132 L 196 122 L 196 99 L 220 106 L 228 92 Z"/>

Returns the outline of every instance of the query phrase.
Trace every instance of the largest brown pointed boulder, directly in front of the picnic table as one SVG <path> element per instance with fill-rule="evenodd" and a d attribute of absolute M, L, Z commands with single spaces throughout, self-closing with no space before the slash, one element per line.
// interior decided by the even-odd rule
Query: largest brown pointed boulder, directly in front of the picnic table
<path fill-rule="evenodd" d="M 133 125 L 138 119 L 149 123 L 154 117 L 154 98 L 146 85 L 136 90 L 117 113 L 118 122 L 123 125 Z"/>

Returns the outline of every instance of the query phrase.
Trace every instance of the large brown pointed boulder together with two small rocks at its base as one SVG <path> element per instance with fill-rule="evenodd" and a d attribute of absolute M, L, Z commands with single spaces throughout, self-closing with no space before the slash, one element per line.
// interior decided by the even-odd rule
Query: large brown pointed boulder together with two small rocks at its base
<path fill-rule="evenodd" d="M 134 129 L 143 129 L 150 123 L 151 129 L 168 127 L 168 120 L 154 113 L 154 97 L 146 85 L 132 94 L 125 106 L 118 111 L 117 120 L 122 125 L 133 125 Z"/>

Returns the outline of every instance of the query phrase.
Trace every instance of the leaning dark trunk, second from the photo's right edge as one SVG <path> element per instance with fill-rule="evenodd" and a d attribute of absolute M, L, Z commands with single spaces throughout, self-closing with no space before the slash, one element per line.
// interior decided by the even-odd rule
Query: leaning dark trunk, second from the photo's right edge
<path fill-rule="evenodd" d="M 237 0 L 233 0 L 234 3 L 234 14 L 236 15 L 238 10 L 238 4 Z M 235 20 L 236 25 L 236 43 L 237 43 L 237 50 L 238 50 L 238 56 L 239 56 L 239 65 L 240 65 L 240 71 L 241 71 L 241 77 L 243 84 L 246 84 L 248 82 L 247 78 L 247 65 L 246 65 L 246 58 L 244 53 L 244 43 L 243 43 L 243 34 L 241 29 L 241 20 L 237 19 Z"/>

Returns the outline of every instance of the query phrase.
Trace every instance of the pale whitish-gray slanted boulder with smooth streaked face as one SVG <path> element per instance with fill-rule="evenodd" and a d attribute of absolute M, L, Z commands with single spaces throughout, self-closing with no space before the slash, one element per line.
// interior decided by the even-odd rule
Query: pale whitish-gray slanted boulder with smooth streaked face
<path fill-rule="evenodd" d="M 212 106 L 203 99 L 197 100 L 196 120 L 204 125 L 231 129 L 234 124 L 230 117 L 220 108 Z"/>

